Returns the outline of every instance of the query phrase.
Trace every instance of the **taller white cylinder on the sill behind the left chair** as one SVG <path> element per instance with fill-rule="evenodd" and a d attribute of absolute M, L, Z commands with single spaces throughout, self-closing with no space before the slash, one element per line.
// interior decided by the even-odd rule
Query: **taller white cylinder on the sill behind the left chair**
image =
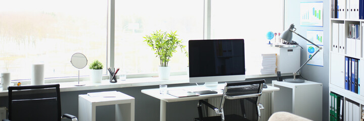
<path fill-rule="evenodd" d="M 44 64 L 33 64 L 30 85 L 43 85 L 43 84 L 44 84 Z"/>

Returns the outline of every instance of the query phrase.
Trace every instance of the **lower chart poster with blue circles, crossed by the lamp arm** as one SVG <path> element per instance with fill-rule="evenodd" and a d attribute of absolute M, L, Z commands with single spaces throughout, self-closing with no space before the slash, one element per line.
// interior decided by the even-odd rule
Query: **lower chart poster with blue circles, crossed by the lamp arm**
<path fill-rule="evenodd" d="M 307 39 L 313 42 L 314 44 L 324 48 L 324 31 L 323 30 L 307 30 Z M 310 42 L 307 42 L 307 54 L 306 58 L 310 58 L 317 50 L 319 50 L 318 47 L 314 46 Z M 324 49 L 321 49 L 319 52 L 317 52 L 311 60 L 307 63 L 307 65 L 312 66 L 324 66 Z"/>

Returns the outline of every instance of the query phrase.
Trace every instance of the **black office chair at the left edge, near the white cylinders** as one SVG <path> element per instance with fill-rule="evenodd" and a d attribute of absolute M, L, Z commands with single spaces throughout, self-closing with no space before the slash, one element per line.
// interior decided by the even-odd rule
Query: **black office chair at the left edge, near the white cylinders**
<path fill-rule="evenodd" d="M 77 120 L 70 114 L 61 116 L 59 84 L 9 87 L 9 120 L 60 121 L 64 117 Z"/>

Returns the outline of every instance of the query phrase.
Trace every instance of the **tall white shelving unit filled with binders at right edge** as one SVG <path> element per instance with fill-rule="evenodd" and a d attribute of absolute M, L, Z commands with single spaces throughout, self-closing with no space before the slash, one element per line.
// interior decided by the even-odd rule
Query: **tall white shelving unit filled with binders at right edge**
<path fill-rule="evenodd" d="M 344 6 L 344 10 L 347 10 L 347 4 L 349 3 L 349 1 L 351 0 L 344 0 L 344 3 L 340 3 L 341 5 L 345 5 Z M 332 3 L 333 1 L 330 1 L 330 5 L 333 5 Z M 330 11 L 331 12 L 331 11 Z M 345 101 L 351 101 L 354 103 L 359 104 L 359 110 L 356 110 L 355 112 L 360 113 L 360 114 L 355 114 L 355 115 L 360 115 L 360 119 L 361 119 L 361 112 L 362 112 L 362 107 L 364 105 L 364 89 L 362 88 L 361 90 L 359 90 L 359 94 L 351 92 L 349 90 L 345 89 L 345 56 L 346 57 L 351 57 L 351 58 L 356 58 L 359 59 L 361 62 L 358 64 L 358 76 L 359 78 L 361 78 L 361 80 L 364 79 L 364 58 L 363 58 L 363 25 L 364 25 L 364 20 L 359 20 L 359 19 L 350 19 L 347 17 L 346 15 L 346 11 L 343 12 L 343 14 L 341 14 L 341 16 L 344 16 L 344 18 L 341 19 L 337 19 L 337 18 L 331 18 L 330 19 L 330 67 L 329 67 L 329 93 L 336 93 L 338 95 L 341 95 L 344 97 L 344 102 Z M 350 51 L 352 51 L 351 46 L 352 45 L 348 45 L 348 37 L 349 37 L 349 25 L 350 24 L 356 24 L 359 25 L 359 39 L 357 42 L 359 42 L 359 44 L 355 44 L 355 52 L 358 52 L 356 54 L 349 54 Z M 340 27 L 342 26 L 342 27 Z M 338 34 L 336 32 L 339 32 Z M 342 33 L 340 33 L 342 32 Z M 335 39 L 336 37 L 338 37 L 338 39 Z M 340 40 L 341 39 L 341 40 Z M 350 40 L 350 39 L 349 39 Z M 344 48 L 340 48 L 340 47 L 344 47 Z M 358 48 L 359 47 L 359 48 Z M 341 49 L 341 50 L 340 50 Z M 358 85 L 360 85 L 360 83 L 362 83 L 362 85 L 364 85 L 364 81 L 360 80 L 358 81 Z M 329 94 L 328 94 L 329 95 Z M 330 97 L 330 96 L 329 96 Z M 330 99 L 329 99 L 330 101 Z M 328 102 L 329 103 L 329 102 Z M 345 105 L 344 103 L 344 107 L 342 109 L 344 109 L 344 116 L 346 115 L 345 113 L 347 113 L 347 105 Z M 328 107 L 329 108 L 329 107 Z M 330 111 L 330 110 L 329 110 Z M 329 115 L 328 115 L 329 116 Z M 330 116 L 329 116 L 330 117 Z M 358 118 L 358 117 L 355 117 Z M 353 119 L 353 117 L 351 117 L 350 119 Z M 344 120 L 347 120 L 346 117 L 344 117 Z M 362 120 L 362 119 L 361 119 Z"/>

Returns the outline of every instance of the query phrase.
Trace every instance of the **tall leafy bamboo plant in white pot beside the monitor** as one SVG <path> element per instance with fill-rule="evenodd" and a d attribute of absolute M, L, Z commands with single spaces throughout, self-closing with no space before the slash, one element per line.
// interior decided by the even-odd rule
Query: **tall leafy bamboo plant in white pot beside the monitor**
<path fill-rule="evenodd" d="M 158 68 L 158 75 L 161 80 L 168 80 L 170 75 L 170 67 L 168 67 L 168 62 L 170 58 L 173 56 L 173 53 L 176 52 L 176 48 L 179 47 L 181 51 L 185 51 L 185 45 L 182 44 L 182 41 L 178 39 L 175 32 L 163 32 L 163 31 L 155 31 L 150 35 L 146 35 L 144 38 L 147 44 L 152 47 L 156 57 L 159 57 L 160 66 Z"/>

